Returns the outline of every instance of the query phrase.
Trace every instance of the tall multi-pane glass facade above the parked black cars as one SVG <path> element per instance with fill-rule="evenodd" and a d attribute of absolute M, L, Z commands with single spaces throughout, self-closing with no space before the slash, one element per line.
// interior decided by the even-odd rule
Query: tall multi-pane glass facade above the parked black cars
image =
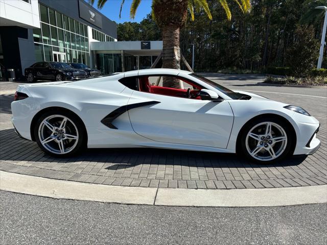
<path fill-rule="evenodd" d="M 39 4 L 41 29 L 33 29 L 36 61 L 89 65 L 87 26 Z"/>

